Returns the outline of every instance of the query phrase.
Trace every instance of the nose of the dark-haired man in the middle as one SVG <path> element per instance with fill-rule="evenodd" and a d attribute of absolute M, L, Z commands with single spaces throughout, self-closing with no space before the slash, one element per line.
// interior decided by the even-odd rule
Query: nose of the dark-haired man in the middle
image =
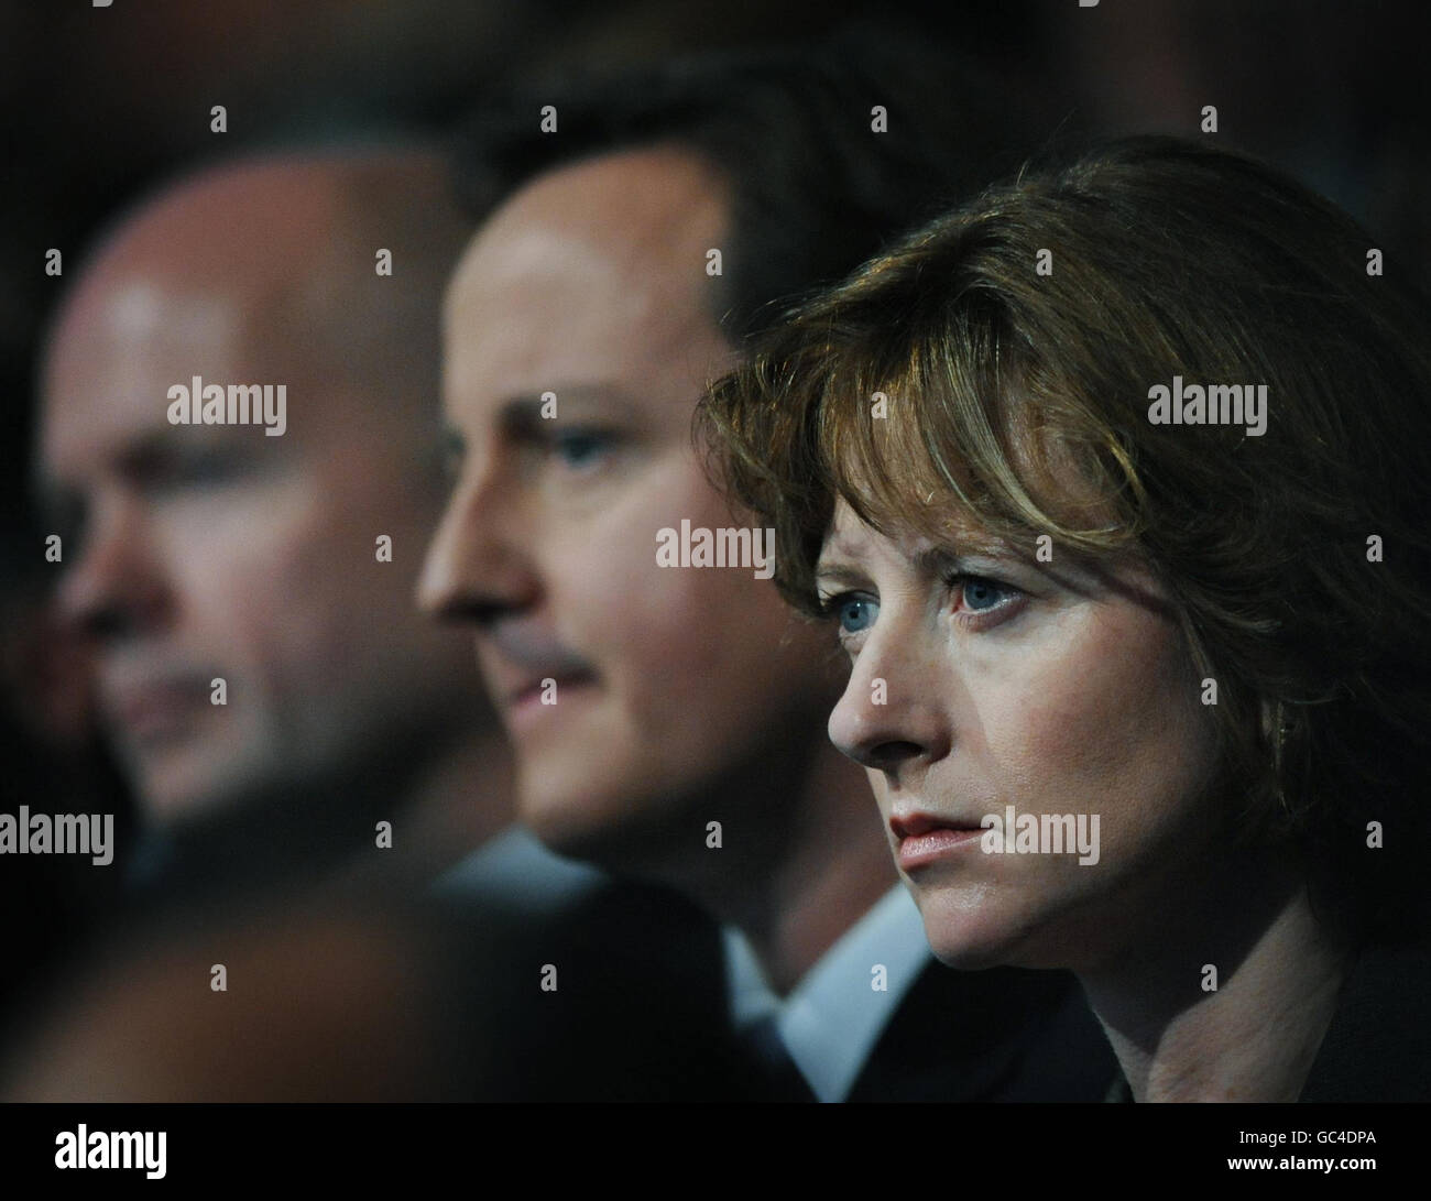
<path fill-rule="evenodd" d="M 418 607 L 446 621 L 487 621 L 535 595 L 537 578 L 508 491 L 491 478 L 459 482 L 428 545 Z"/>

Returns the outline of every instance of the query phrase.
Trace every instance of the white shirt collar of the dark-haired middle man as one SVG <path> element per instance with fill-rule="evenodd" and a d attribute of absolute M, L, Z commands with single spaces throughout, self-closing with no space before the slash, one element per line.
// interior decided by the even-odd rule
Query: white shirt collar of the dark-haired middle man
<path fill-rule="evenodd" d="M 746 936 L 724 928 L 731 1018 L 774 1013 L 790 1058 L 820 1101 L 843 1101 L 884 1026 L 932 956 L 919 906 L 896 885 L 847 929 L 784 999 L 771 991 Z M 884 989 L 876 968 L 883 968 Z"/>

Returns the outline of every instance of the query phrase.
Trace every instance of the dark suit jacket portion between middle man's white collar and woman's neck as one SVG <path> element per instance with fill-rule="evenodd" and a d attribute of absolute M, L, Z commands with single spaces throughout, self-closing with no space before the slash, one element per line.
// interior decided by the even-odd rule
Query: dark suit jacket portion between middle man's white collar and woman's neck
<path fill-rule="evenodd" d="M 1069 972 L 956 972 L 932 962 L 849 1099 L 1102 1101 L 1116 1069 Z"/>

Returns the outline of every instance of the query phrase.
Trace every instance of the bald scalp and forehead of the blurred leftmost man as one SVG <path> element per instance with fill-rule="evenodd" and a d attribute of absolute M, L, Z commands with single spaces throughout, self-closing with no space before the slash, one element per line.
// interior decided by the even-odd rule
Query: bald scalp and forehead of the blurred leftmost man
<path fill-rule="evenodd" d="M 275 156 L 205 172 L 104 239 L 62 309 L 47 366 L 70 336 L 185 355 L 222 339 L 289 385 L 426 409 L 444 279 L 468 233 L 432 155 Z"/>

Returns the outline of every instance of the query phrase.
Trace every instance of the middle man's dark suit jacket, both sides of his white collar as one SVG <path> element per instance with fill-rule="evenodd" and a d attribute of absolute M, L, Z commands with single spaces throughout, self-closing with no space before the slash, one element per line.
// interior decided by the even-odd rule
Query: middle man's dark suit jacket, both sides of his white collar
<path fill-rule="evenodd" d="M 737 1038 L 726 963 L 705 915 L 664 889 L 611 885 L 552 919 L 472 915 L 495 1019 L 479 1099 L 811 1101 L 786 1058 Z M 475 946 L 469 946 L 472 959 Z M 535 991 L 541 963 L 561 989 Z M 498 971 L 491 971 L 497 968 Z M 464 1006 L 468 1021 L 474 1006 Z M 1099 1101 L 1116 1071 L 1066 972 L 956 972 L 932 962 L 881 1032 L 850 1101 Z"/>

